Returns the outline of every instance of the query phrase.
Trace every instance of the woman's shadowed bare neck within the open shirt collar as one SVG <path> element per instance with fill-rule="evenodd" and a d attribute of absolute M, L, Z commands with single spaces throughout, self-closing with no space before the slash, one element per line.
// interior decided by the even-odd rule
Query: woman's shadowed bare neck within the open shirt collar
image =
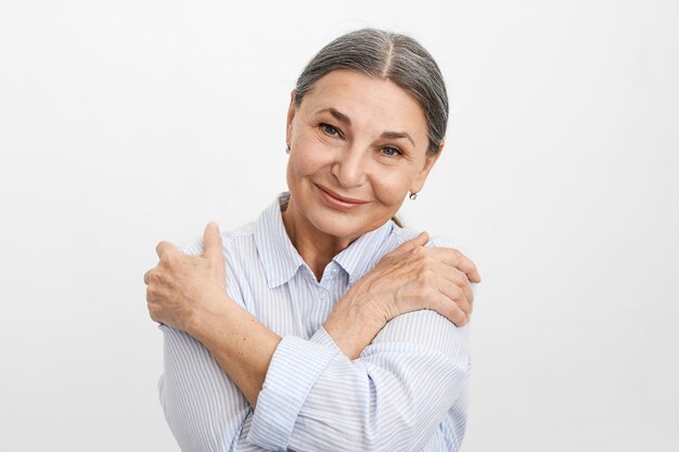
<path fill-rule="evenodd" d="M 317 281 L 321 281 L 323 270 L 330 261 L 353 242 L 351 238 L 336 237 L 316 229 L 297 210 L 292 198 L 283 211 L 283 224 L 290 241 L 309 266 Z"/>

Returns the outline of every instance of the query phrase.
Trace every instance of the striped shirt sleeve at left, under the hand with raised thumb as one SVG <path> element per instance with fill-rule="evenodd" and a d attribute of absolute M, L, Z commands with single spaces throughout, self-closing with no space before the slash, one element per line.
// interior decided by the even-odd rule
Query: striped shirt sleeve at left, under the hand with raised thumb
<path fill-rule="evenodd" d="M 201 254 L 201 243 L 185 254 Z M 225 250 L 226 253 L 226 250 Z M 240 288 L 227 258 L 227 287 L 236 302 Z M 182 452 L 225 452 L 233 448 L 251 406 L 209 351 L 189 334 L 159 326 L 164 369 L 158 382 L 165 419 Z"/>

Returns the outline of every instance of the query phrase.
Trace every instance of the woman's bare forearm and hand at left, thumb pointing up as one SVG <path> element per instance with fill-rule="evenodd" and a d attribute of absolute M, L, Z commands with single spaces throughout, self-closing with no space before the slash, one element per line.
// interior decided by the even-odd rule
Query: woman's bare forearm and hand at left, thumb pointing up
<path fill-rule="evenodd" d="M 156 251 L 144 275 L 151 318 L 201 341 L 254 406 L 281 338 L 228 295 L 217 225 L 205 229 L 202 256 L 166 242 Z"/>

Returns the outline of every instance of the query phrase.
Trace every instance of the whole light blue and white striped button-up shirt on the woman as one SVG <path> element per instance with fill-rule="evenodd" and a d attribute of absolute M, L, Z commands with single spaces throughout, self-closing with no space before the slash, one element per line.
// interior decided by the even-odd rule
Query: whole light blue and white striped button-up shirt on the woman
<path fill-rule="evenodd" d="M 340 297 L 415 233 L 388 221 L 335 256 L 318 282 L 285 233 L 286 199 L 222 233 L 229 295 L 283 338 L 256 409 L 201 343 L 161 326 L 161 402 L 181 450 L 457 451 L 466 422 L 467 326 L 434 311 L 399 315 L 354 361 L 322 327 Z M 430 246 L 452 245 L 433 238 Z M 184 253 L 201 254 L 202 242 Z"/>

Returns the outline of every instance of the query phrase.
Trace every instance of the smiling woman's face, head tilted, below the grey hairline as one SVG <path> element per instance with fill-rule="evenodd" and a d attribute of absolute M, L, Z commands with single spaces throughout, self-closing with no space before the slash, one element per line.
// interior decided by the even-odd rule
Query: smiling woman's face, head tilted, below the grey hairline
<path fill-rule="evenodd" d="M 297 108 L 291 101 L 287 143 L 295 224 L 347 240 L 389 220 L 437 158 L 426 155 L 419 103 L 389 80 L 353 70 L 319 79 Z"/>

